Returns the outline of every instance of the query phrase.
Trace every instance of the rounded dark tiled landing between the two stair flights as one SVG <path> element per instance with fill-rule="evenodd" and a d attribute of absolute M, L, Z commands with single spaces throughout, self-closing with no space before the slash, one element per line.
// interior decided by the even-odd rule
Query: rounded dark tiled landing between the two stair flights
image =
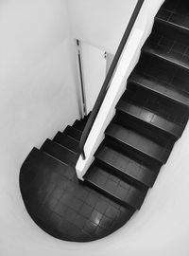
<path fill-rule="evenodd" d="M 34 222 L 66 241 L 88 242 L 107 236 L 133 212 L 84 186 L 73 167 L 36 148 L 22 166 L 20 187 Z"/>

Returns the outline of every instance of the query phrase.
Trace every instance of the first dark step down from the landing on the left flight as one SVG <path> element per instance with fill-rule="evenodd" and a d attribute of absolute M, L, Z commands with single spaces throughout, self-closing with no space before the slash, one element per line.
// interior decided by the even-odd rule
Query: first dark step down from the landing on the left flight
<path fill-rule="evenodd" d="M 70 164 L 72 166 L 75 166 L 77 163 L 78 155 L 75 152 L 69 150 L 68 148 L 64 148 L 49 138 L 44 141 L 41 150 L 46 154 L 52 155 L 53 157 L 59 159 L 63 163 Z"/>

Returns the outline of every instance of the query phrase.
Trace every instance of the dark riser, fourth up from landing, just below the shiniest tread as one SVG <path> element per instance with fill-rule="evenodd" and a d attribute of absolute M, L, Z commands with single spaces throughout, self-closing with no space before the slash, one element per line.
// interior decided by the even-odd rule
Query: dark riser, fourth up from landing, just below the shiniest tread
<path fill-rule="evenodd" d="M 168 144 L 169 149 L 173 148 L 175 141 L 178 139 L 178 137 L 163 131 L 153 124 L 146 122 L 143 119 L 137 119 L 120 110 L 117 110 L 116 119 L 114 120 L 125 127 L 134 128 L 133 130 L 136 132 L 139 132 L 162 146 Z"/>

